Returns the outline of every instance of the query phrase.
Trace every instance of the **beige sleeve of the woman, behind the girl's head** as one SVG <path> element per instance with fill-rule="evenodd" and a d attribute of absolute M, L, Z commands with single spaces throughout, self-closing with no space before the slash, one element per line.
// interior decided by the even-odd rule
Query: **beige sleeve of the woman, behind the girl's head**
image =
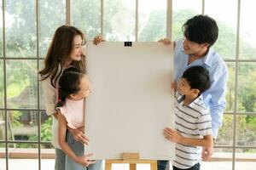
<path fill-rule="evenodd" d="M 43 93 L 44 93 L 44 105 L 47 115 L 53 115 L 56 104 L 56 92 L 55 88 L 51 85 L 49 77 L 42 81 Z"/>

